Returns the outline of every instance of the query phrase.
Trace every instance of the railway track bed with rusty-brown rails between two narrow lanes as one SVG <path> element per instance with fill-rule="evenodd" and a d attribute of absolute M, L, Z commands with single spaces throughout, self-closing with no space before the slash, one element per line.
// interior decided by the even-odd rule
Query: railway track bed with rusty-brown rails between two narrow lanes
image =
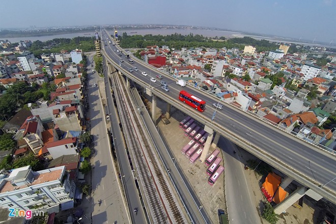
<path fill-rule="evenodd" d="M 152 219 L 154 223 L 185 223 L 185 218 L 180 212 L 181 208 L 177 205 L 172 190 L 159 167 L 144 127 L 137 119 L 138 111 L 127 94 L 124 80 L 117 72 L 114 72 L 112 77 L 115 83 L 115 94 L 121 104 L 118 111 L 123 120 L 129 151 L 135 160 L 138 179 L 144 189 Z M 161 194 L 158 188 L 161 189 Z"/>

